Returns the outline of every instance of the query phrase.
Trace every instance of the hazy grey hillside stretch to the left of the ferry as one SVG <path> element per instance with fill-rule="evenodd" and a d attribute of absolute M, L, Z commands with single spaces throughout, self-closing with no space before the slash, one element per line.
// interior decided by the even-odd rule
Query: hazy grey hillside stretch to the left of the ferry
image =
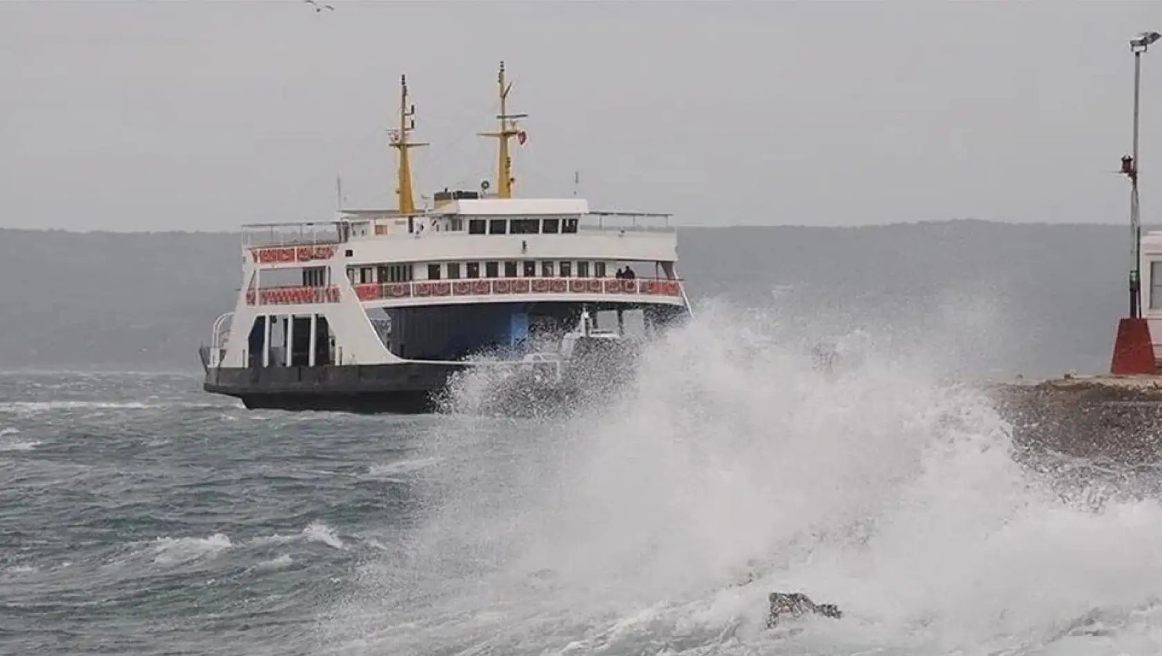
<path fill-rule="evenodd" d="M 196 368 L 235 300 L 227 233 L 0 230 L 3 367 Z"/>

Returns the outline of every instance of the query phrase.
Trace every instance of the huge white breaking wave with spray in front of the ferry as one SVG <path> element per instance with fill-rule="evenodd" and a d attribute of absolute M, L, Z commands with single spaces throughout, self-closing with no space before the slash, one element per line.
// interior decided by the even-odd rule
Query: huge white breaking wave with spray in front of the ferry
<path fill-rule="evenodd" d="M 603 408 L 447 421 L 438 503 L 320 653 L 1159 651 L 1156 498 L 1016 457 L 954 329 L 835 333 L 824 370 L 782 325 L 704 310 Z M 775 590 L 845 618 L 768 630 Z"/>

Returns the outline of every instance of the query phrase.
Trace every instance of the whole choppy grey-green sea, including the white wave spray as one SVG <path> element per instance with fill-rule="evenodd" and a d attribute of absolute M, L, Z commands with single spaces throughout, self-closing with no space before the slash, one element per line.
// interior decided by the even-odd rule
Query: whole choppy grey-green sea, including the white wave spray
<path fill-rule="evenodd" d="M 923 352 L 700 319 L 572 418 L 0 375 L 0 653 L 1162 653 L 1162 504 Z M 483 383 L 482 383 L 483 384 Z M 765 627 L 770 591 L 841 620 Z"/>

